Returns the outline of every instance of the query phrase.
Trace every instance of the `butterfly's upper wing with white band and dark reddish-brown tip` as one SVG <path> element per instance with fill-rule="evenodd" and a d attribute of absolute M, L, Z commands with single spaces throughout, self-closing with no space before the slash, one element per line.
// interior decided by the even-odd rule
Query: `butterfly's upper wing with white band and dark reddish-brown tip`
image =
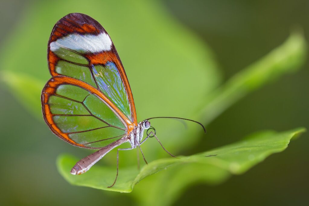
<path fill-rule="evenodd" d="M 137 125 L 125 70 L 112 40 L 97 21 L 79 13 L 60 19 L 49 39 L 48 62 L 52 76 L 69 76 L 90 84 Z"/>

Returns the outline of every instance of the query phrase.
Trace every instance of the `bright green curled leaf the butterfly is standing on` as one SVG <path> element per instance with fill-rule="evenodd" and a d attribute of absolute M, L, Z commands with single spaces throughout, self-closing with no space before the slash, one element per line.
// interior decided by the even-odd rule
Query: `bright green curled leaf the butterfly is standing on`
<path fill-rule="evenodd" d="M 173 185 L 175 188 L 179 185 L 177 181 L 203 181 L 208 184 L 218 184 L 231 174 L 242 174 L 257 163 L 262 162 L 269 155 L 283 151 L 288 146 L 291 138 L 303 132 L 305 132 L 304 128 L 280 133 L 263 131 L 252 134 L 240 142 L 196 155 L 181 156 L 180 159 L 158 159 L 142 167 L 139 172 L 133 167 L 120 168 L 117 182 L 111 188 L 107 187 L 112 184 L 115 178 L 116 169 L 114 167 L 95 165 L 85 174 L 71 175 L 70 170 L 78 159 L 70 155 L 61 155 L 57 160 L 57 167 L 60 174 L 73 185 L 117 192 L 131 192 L 134 185 L 140 180 L 168 167 L 174 167 L 172 175 L 178 177 L 175 179 L 176 182 L 168 182 L 169 185 Z M 160 181 L 161 187 L 166 185 L 164 184 L 165 180 L 165 178 L 157 179 L 157 181 Z M 153 191 L 151 191 L 153 187 L 147 188 L 150 191 L 147 189 L 147 194 L 144 193 L 143 197 L 140 198 L 142 205 L 150 205 L 151 202 L 154 205 L 168 205 L 168 201 L 176 198 L 176 195 L 179 194 L 178 192 L 175 193 L 175 190 L 166 190 L 165 188 L 160 190 L 160 194 L 156 193 L 154 196 Z M 157 200 L 158 195 L 160 200 Z M 151 198 L 153 201 L 150 200 Z"/>

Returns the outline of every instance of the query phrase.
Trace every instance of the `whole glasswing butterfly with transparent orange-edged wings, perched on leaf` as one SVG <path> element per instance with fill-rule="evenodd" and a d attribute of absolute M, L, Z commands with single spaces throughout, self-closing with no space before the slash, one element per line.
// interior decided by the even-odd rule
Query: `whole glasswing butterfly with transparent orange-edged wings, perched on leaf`
<path fill-rule="evenodd" d="M 130 148 L 117 150 L 112 187 L 118 177 L 120 150 L 138 147 L 143 155 L 140 145 L 150 137 L 163 147 L 150 119 L 189 120 L 152 117 L 137 122 L 133 95 L 116 48 L 105 29 L 88 15 L 72 13 L 60 19 L 51 32 L 47 52 L 52 78 L 41 95 L 46 124 L 66 142 L 98 150 L 78 161 L 70 171 L 73 175 L 88 171 L 109 151 L 129 142 Z M 196 123 L 205 131 L 201 123 Z M 143 139 L 145 130 L 147 136 Z"/>

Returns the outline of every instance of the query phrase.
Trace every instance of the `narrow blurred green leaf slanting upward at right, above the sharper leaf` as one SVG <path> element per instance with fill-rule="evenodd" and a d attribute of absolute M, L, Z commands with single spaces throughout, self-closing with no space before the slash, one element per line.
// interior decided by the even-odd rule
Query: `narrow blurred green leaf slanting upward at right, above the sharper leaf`
<path fill-rule="evenodd" d="M 248 93 L 278 79 L 285 73 L 301 68 L 306 57 L 307 43 L 302 33 L 292 33 L 281 46 L 249 65 L 209 94 L 198 116 L 205 125 L 209 124 Z"/>

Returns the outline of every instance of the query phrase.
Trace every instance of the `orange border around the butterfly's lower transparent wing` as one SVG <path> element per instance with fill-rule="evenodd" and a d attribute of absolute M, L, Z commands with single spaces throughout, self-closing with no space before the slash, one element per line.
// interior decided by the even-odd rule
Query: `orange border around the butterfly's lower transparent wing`
<path fill-rule="evenodd" d="M 55 122 L 53 121 L 53 114 L 50 111 L 50 106 L 48 104 L 48 100 L 49 97 L 52 96 L 53 94 L 56 93 L 57 87 L 61 84 L 70 84 L 70 85 L 74 85 L 74 86 L 78 86 L 81 87 L 83 89 L 86 89 L 87 91 L 89 91 L 92 94 L 95 94 L 97 97 L 101 98 L 103 101 L 105 101 L 107 103 L 107 105 L 116 112 L 116 114 L 120 117 L 120 119 L 125 123 L 126 127 L 127 127 L 127 134 L 129 134 L 133 128 L 134 128 L 134 124 L 133 122 L 131 122 L 119 109 L 116 105 L 114 105 L 112 103 L 112 101 L 110 101 L 108 99 L 108 97 L 106 97 L 101 91 L 99 91 L 98 89 L 92 87 L 91 85 L 71 78 L 71 77 L 67 77 L 67 76 L 55 76 L 52 77 L 44 86 L 44 89 L 42 91 L 42 96 L 41 96 L 41 102 L 42 102 L 42 112 L 43 112 L 43 116 L 44 116 L 44 120 L 46 122 L 46 124 L 49 126 L 50 130 L 52 130 L 52 132 L 54 134 L 56 134 L 59 138 L 65 140 L 66 142 L 74 145 L 74 146 L 78 146 L 78 147 L 83 147 L 83 148 L 91 148 L 91 149 L 97 149 L 97 148 L 92 148 L 92 147 L 87 147 L 85 145 L 82 144 L 78 144 L 77 142 L 73 141 L 69 135 L 67 133 L 62 132 L 57 125 L 55 124 Z"/>

